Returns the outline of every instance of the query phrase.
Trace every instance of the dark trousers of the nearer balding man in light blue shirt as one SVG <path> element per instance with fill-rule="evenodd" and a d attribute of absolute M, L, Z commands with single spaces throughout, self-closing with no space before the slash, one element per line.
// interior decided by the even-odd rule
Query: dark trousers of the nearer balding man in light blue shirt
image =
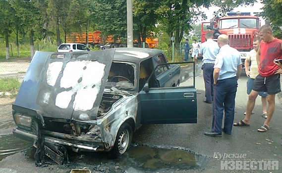
<path fill-rule="evenodd" d="M 214 86 L 212 131 L 222 133 L 223 111 L 225 111 L 224 129 L 231 132 L 234 121 L 235 96 L 237 91 L 236 77 L 219 80 Z"/>

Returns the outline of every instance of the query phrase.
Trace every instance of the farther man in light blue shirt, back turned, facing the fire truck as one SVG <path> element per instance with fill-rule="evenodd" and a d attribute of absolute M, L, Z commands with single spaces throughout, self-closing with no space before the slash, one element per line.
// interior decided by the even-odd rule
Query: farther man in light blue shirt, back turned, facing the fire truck
<path fill-rule="evenodd" d="M 205 82 L 205 103 L 212 103 L 214 96 L 214 64 L 220 50 L 218 43 L 213 41 L 213 33 L 206 33 L 207 41 L 200 46 L 199 55 L 203 56 L 203 77 Z"/>

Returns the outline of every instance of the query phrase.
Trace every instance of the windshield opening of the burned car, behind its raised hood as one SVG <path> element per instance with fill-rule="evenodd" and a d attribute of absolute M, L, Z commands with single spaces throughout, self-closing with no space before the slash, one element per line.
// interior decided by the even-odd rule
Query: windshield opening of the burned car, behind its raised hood
<path fill-rule="evenodd" d="M 133 66 L 133 64 L 113 62 L 106 87 L 115 87 L 121 90 L 134 90 L 135 68 Z"/>

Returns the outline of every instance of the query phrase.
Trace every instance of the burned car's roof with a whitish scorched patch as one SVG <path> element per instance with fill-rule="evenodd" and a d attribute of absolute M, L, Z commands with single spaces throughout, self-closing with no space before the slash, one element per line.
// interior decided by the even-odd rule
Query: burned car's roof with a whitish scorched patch
<path fill-rule="evenodd" d="M 129 61 L 139 64 L 144 59 L 161 53 L 163 53 L 162 50 L 153 48 L 118 47 L 115 49 L 113 60 Z"/>

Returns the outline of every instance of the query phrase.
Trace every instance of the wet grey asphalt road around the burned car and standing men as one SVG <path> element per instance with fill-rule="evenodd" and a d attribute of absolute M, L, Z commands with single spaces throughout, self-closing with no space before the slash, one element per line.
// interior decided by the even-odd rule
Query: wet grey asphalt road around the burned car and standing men
<path fill-rule="evenodd" d="M 138 163 L 136 166 L 136 164 L 132 164 L 135 161 L 126 158 L 127 154 L 119 160 L 107 161 L 107 156 L 104 157 L 105 154 L 101 153 L 79 155 L 75 159 L 75 162 L 78 163 L 77 166 L 80 166 L 81 169 L 93 167 L 98 169 L 99 167 L 99 173 L 281 173 L 282 166 L 277 166 L 279 162 L 282 164 L 282 102 L 280 99 L 276 98 L 276 110 L 269 131 L 257 131 L 265 120 L 261 116 L 261 101 L 258 98 L 254 109 L 255 114 L 251 117 L 249 127 L 233 127 L 231 135 L 223 133 L 222 137 L 209 137 L 204 135 L 204 131 L 211 130 L 212 104 L 202 102 L 204 99 L 204 81 L 200 64 L 196 66 L 196 74 L 198 74 L 195 79 L 198 123 L 143 125 L 133 134 L 132 143 L 156 148 L 175 148 L 190 151 L 197 156 L 207 158 L 206 160 L 197 160 L 198 157 L 195 157 L 196 163 L 199 165 L 197 169 L 186 170 L 170 167 L 168 169 L 142 170 L 141 164 L 138 165 Z M 238 80 L 238 91 L 235 100 L 235 122 L 244 118 L 243 113 L 248 99 L 246 82 L 247 77 L 242 74 Z M 229 158 L 223 159 L 221 156 Z M 240 158 L 237 158 L 239 156 Z M 233 158 L 230 159 L 230 157 Z M 90 160 L 93 161 L 90 162 Z M 250 168 L 250 161 L 256 167 Z M 128 162 L 129 166 L 121 166 L 122 162 Z M 245 163 L 242 164 L 241 162 Z M 269 165 L 264 164 L 264 162 Z M 84 164 L 79 165 L 79 163 Z M 103 169 L 101 170 L 102 166 L 103 168 L 111 167 L 112 169 L 103 171 Z M 22 152 L 8 156 L 0 161 L 0 173 L 69 173 L 70 168 L 74 167 L 70 165 L 67 167 L 51 165 L 46 168 L 38 168 L 35 167 L 34 160 L 27 159 Z"/>

